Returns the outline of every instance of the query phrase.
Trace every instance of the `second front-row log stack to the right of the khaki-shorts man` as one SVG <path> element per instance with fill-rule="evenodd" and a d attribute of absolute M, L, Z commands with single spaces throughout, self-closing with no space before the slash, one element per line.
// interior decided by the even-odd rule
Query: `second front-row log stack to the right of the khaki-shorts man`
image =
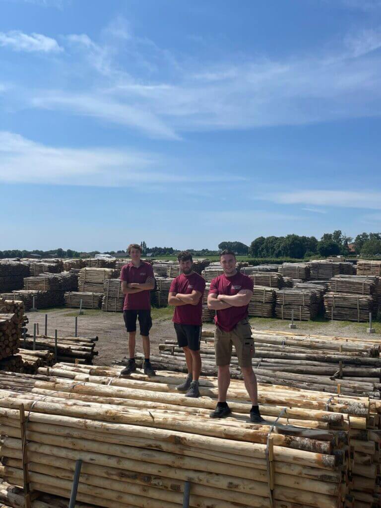
<path fill-rule="evenodd" d="M 304 284 L 300 284 L 304 286 Z M 308 321 L 314 319 L 323 308 L 323 288 L 295 287 L 276 291 L 275 315 L 279 319 Z"/>

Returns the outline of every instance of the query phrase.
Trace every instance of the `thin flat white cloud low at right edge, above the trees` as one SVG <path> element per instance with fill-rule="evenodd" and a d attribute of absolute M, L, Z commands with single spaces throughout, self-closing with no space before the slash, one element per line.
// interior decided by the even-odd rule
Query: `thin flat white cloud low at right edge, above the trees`
<path fill-rule="evenodd" d="M 259 195 L 257 199 L 265 199 L 283 205 L 301 204 L 381 210 L 381 192 L 372 190 L 306 189 Z"/>

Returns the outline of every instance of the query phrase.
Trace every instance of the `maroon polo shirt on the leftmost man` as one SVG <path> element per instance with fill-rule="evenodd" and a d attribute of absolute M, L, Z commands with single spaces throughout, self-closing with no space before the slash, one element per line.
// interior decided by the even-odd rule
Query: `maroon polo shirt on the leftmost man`
<path fill-rule="evenodd" d="M 149 263 L 140 262 L 140 266 L 135 268 L 131 263 L 122 266 L 120 270 L 120 280 L 125 282 L 138 282 L 144 284 L 148 277 L 153 277 L 153 269 Z M 123 310 L 150 310 L 151 295 L 150 291 L 144 290 L 139 293 L 125 295 Z"/>

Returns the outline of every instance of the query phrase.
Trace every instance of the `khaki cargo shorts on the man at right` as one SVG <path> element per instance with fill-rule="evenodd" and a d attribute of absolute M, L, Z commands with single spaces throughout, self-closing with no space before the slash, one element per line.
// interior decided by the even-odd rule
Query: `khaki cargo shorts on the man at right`
<path fill-rule="evenodd" d="M 214 349 L 217 366 L 223 367 L 230 364 L 233 344 L 237 352 L 239 366 L 251 367 L 251 359 L 255 355 L 255 347 L 247 319 L 239 321 L 230 332 L 225 332 L 218 326 L 215 327 Z"/>

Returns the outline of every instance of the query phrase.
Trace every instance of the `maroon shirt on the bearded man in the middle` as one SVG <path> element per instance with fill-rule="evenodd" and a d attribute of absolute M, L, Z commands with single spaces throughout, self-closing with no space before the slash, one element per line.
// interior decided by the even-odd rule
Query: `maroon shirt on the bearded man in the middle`
<path fill-rule="evenodd" d="M 172 321 L 180 325 L 202 325 L 202 297 L 205 291 L 205 279 L 198 273 L 184 275 L 181 273 L 172 280 L 170 293 L 180 293 L 181 295 L 191 295 L 192 291 L 200 291 L 201 297 L 197 305 L 179 305 L 175 307 Z"/>

